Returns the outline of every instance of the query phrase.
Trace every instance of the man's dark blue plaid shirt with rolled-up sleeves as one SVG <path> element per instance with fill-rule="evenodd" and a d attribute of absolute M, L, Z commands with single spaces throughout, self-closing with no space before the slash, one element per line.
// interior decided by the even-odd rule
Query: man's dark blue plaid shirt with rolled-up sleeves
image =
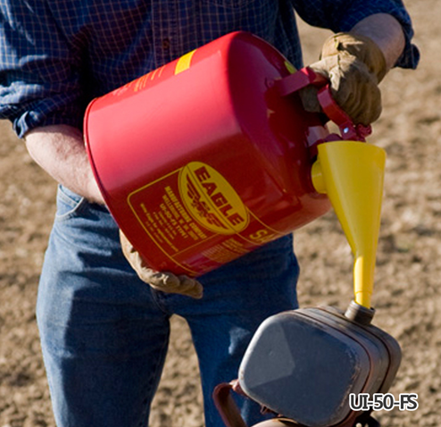
<path fill-rule="evenodd" d="M 237 29 L 266 39 L 299 68 L 294 10 L 336 32 L 390 13 L 406 35 L 397 65 L 418 62 L 401 0 L 2 0 L 0 119 L 19 137 L 49 124 L 80 129 L 95 96 Z"/>

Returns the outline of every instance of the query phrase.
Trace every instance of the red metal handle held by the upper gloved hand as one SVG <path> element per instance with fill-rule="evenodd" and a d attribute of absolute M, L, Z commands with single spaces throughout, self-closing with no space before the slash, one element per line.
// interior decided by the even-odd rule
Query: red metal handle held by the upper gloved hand
<path fill-rule="evenodd" d="M 364 142 L 366 137 L 372 132 L 370 125 L 354 124 L 354 121 L 351 120 L 349 115 L 347 115 L 334 100 L 330 91 L 329 80 L 326 79 L 326 77 L 313 71 L 309 67 L 304 67 L 276 82 L 279 96 L 291 95 L 301 88 L 310 85 L 319 88 L 317 97 L 320 107 L 329 120 L 337 124 L 342 134 L 341 138 Z"/>

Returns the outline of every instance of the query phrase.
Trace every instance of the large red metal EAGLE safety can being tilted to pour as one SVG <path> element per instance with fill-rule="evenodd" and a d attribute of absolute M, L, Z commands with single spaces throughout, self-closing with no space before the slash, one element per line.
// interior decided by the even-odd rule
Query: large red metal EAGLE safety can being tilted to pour
<path fill-rule="evenodd" d="M 294 71 L 235 32 L 88 105 L 98 185 L 155 270 L 198 276 L 329 210 L 311 181 L 329 130 L 304 112 Z"/>

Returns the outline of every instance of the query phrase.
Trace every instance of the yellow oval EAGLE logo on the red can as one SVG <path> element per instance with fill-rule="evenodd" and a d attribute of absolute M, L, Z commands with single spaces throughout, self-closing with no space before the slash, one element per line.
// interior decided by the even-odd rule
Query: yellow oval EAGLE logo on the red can
<path fill-rule="evenodd" d="M 208 164 L 187 163 L 179 173 L 179 193 L 188 212 L 208 230 L 229 235 L 248 225 L 249 213 L 241 198 Z"/>

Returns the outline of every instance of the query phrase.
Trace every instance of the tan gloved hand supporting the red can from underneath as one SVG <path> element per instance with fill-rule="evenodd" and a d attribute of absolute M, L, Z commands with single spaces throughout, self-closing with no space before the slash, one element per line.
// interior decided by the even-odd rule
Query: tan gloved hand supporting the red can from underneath
<path fill-rule="evenodd" d="M 139 279 L 148 283 L 153 289 L 172 294 L 187 295 L 187 297 L 202 298 L 203 287 L 195 279 L 185 275 L 176 276 L 171 272 L 156 272 L 146 265 L 141 255 L 132 246 L 124 233 L 120 230 L 122 253 L 129 261 Z"/>

